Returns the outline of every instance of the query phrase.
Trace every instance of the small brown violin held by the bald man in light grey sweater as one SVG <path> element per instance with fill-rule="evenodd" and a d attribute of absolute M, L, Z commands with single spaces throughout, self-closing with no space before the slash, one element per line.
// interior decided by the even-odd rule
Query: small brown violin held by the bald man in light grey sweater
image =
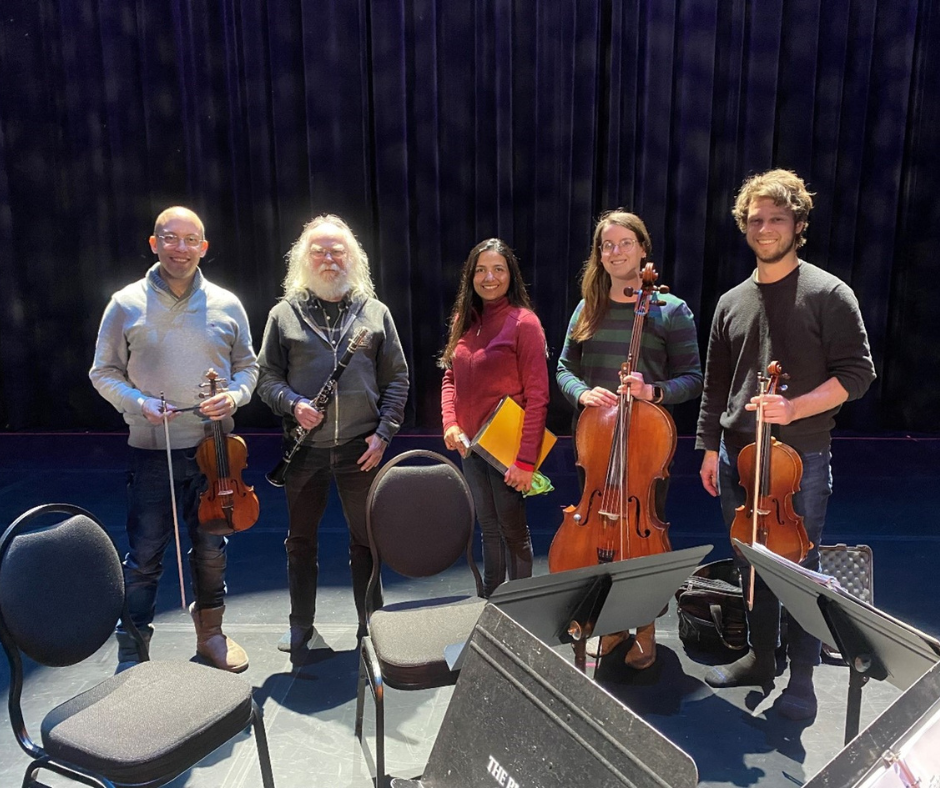
<path fill-rule="evenodd" d="M 206 373 L 208 394 L 200 398 L 214 397 L 224 387 L 214 369 Z M 248 447 L 244 439 L 222 432 L 222 422 L 213 420 L 212 434 L 196 447 L 196 462 L 208 482 L 205 492 L 199 497 L 199 527 L 218 536 L 233 531 L 245 531 L 258 521 L 258 496 L 254 487 L 247 486 L 241 472 L 248 465 Z"/>

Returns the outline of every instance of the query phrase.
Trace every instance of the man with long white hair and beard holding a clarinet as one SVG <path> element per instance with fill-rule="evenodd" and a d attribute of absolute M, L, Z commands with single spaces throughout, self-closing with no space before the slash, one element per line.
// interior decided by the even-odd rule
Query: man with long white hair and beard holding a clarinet
<path fill-rule="evenodd" d="M 313 400 L 360 329 L 367 341 L 350 358 L 327 406 Z M 349 528 L 349 565 L 365 633 L 372 574 L 366 496 L 385 447 L 401 426 L 408 365 L 388 308 L 375 298 L 369 259 L 338 216 L 309 222 L 288 253 L 284 298 L 268 316 L 261 341 L 258 395 L 284 419 L 285 447 L 302 444 L 285 477 L 289 531 L 290 627 L 278 643 L 301 652 L 314 635 L 317 529 L 335 480 Z M 381 586 L 375 607 L 381 606 Z"/>

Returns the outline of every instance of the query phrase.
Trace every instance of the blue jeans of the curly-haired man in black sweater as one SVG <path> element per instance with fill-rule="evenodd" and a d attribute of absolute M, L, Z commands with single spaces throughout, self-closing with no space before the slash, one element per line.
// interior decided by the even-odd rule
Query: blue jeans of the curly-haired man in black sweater
<path fill-rule="evenodd" d="M 724 441 L 718 453 L 718 489 L 721 492 L 721 511 L 725 524 L 731 527 L 734 510 L 742 506 L 747 497 L 738 483 L 738 449 L 726 446 Z M 802 565 L 819 569 L 819 543 L 826 522 L 826 507 L 832 494 L 830 453 L 800 453 L 803 460 L 803 479 L 800 490 L 793 496 L 793 509 L 802 515 L 806 535 L 813 543 Z M 750 587 L 750 565 L 739 555 L 735 563 L 741 570 L 741 584 L 747 599 Z M 754 609 L 747 611 L 748 641 L 751 648 L 773 650 L 780 644 L 780 602 L 760 575 L 754 586 Z M 787 616 L 787 654 L 791 662 L 803 665 L 819 664 L 819 640 L 806 632 L 792 616 Z"/>

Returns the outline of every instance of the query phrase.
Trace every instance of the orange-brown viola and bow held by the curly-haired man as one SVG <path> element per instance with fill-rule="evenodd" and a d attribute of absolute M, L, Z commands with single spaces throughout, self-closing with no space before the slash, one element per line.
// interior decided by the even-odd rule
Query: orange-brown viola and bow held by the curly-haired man
<path fill-rule="evenodd" d="M 780 380 L 788 377 L 779 361 L 771 361 L 767 374 L 759 378 L 760 396 L 783 391 L 786 387 L 780 386 Z M 762 544 L 771 552 L 800 563 L 813 547 L 803 518 L 793 509 L 793 495 L 800 489 L 803 478 L 803 461 L 795 449 L 771 436 L 760 406 L 754 443 L 749 443 L 738 454 L 738 477 L 747 490 L 747 500 L 735 509 L 731 538 L 745 544 Z M 752 566 L 748 608 L 753 607 Z"/>

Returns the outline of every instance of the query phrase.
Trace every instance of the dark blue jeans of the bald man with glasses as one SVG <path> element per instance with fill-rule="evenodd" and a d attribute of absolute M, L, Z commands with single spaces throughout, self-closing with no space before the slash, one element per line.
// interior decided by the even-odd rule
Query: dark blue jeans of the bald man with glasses
<path fill-rule="evenodd" d="M 192 548 L 189 568 L 197 608 L 221 607 L 225 596 L 224 536 L 212 536 L 199 526 L 199 494 L 205 477 L 196 464 L 196 450 L 174 449 L 173 485 Z M 130 448 L 127 462 L 127 538 L 124 583 L 131 620 L 144 636 L 153 632 L 157 586 L 163 574 L 163 555 L 173 540 L 166 451 Z M 123 633 L 118 624 L 117 631 Z"/>

